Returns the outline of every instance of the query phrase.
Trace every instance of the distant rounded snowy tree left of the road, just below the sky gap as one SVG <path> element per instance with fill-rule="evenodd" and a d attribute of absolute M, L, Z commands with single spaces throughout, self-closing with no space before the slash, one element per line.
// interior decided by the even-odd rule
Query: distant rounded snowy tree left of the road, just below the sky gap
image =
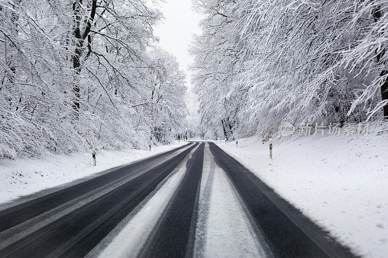
<path fill-rule="evenodd" d="M 186 126 L 187 108 L 185 74 L 179 70 L 174 56 L 157 48 L 149 54 L 144 73 L 144 100 L 153 135 L 159 141 L 169 141 Z"/>

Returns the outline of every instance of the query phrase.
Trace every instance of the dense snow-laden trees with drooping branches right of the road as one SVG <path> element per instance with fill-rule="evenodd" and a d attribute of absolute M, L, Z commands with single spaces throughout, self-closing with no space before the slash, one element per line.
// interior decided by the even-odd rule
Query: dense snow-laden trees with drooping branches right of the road
<path fill-rule="evenodd" d="M 194 0 L 207 138 L 388 117 L 387 0 Z"/>

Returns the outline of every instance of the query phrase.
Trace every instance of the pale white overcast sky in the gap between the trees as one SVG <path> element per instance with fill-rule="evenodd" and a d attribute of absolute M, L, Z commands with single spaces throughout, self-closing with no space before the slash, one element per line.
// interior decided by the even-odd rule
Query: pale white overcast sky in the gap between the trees
<path fill-rule="evenodd" d="M 201 15 L 192 10 L 192 0 L 166 0 L 160 3 L 160 10 L 165 19 L 155 28 L 155 35 L 160 38 L 159 46 L 177 57 L 180 69 L 187 74 L 187 84 L 190 88 L 188 65 L 193 58 L 188 53 L 188 47 L 193 34 L 199 34 L 198 23 Z"/>

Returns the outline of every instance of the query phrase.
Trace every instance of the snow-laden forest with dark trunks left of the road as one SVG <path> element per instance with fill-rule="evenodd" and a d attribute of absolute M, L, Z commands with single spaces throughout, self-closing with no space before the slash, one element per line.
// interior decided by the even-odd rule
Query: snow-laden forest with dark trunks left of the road
<path fill-rule="evenodd" d="M 0 155 L 146 148 L 185 126 L 149 0 L 0 0 Z"/>

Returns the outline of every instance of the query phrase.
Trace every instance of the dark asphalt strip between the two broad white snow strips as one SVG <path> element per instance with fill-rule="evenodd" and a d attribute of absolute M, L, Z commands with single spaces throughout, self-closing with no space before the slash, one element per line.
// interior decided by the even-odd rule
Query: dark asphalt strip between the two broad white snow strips
<path fill-rule="evenodd" d="M 187 162 L 186 174 L 159 220 L 154 234 L 139 257 L 192 256 L 202 177 L 204 145 L 201 143 Z"/>

